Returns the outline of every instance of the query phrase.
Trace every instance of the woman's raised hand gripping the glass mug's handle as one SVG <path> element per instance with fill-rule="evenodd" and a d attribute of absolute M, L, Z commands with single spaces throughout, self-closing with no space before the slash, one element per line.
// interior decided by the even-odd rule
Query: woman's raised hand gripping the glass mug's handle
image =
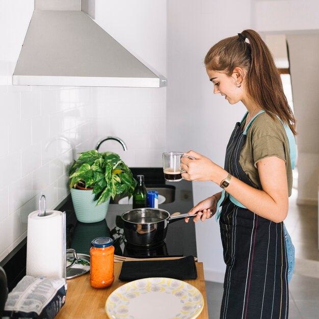
<path fill-rule="evenodd" d="M 192 156 L 195 159 L 191 159 L 187 156 Z M 184 179 L 197 181 L 214 181 L 216 169 L 222 169 L 220 166 L 210 161 L 209 158 L 194 151 L 189 151 L 183 154 L 181 157 L 180 167 L 184 171 L 182 173 L 182 177 Z"/>

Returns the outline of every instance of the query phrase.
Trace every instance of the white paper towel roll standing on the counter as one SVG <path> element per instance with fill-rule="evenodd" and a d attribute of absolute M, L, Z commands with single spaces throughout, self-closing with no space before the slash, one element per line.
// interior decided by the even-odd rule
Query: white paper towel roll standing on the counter
<path fill-rule="evenodd" d="M 28 217 L 26 275 L 64 278 L 65 214 L 58 210 L 48 210 L 46 216 L 38 214 L 36 210 Z"/>

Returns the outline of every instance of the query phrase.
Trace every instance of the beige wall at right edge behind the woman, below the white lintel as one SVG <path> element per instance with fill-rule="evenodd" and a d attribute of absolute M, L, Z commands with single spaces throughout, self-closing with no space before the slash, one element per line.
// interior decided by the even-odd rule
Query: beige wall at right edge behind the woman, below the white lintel
<path fill-rule="evenodd" d="M 298 204 L 318 203 L 319 33 L 287 35 L 297 119 Z M 315 52 L 315 54 L 314 54 Z"/>

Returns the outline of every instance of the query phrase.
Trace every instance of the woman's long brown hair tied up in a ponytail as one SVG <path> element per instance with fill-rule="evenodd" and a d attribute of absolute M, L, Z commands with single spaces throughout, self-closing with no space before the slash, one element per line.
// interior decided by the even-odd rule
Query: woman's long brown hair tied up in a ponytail
<path fill-rule="evenodd" d="M 249 40 L 249 43 L 245 41 Z M 212 46 L 204 60 L 208 70 L 231 76 L 235 67 L 247 71 L 247 93 L 273 119 L 276 115 L 296 135 L 296 120 L 283 92 L 282 82 L 268 46 L 254 30 L 223 39 Z"/>

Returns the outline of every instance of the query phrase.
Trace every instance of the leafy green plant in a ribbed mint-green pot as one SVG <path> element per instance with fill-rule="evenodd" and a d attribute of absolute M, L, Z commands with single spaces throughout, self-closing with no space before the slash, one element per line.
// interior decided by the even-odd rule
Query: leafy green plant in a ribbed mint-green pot
<path fill-rule="evenodd" d="M 69 176 L 75 215 L 83 223 L 103 220 L 110 198 L 121 194 L 132 196 L 137 183 L 118 154 L 97 150 L 81 153 Z"/>

